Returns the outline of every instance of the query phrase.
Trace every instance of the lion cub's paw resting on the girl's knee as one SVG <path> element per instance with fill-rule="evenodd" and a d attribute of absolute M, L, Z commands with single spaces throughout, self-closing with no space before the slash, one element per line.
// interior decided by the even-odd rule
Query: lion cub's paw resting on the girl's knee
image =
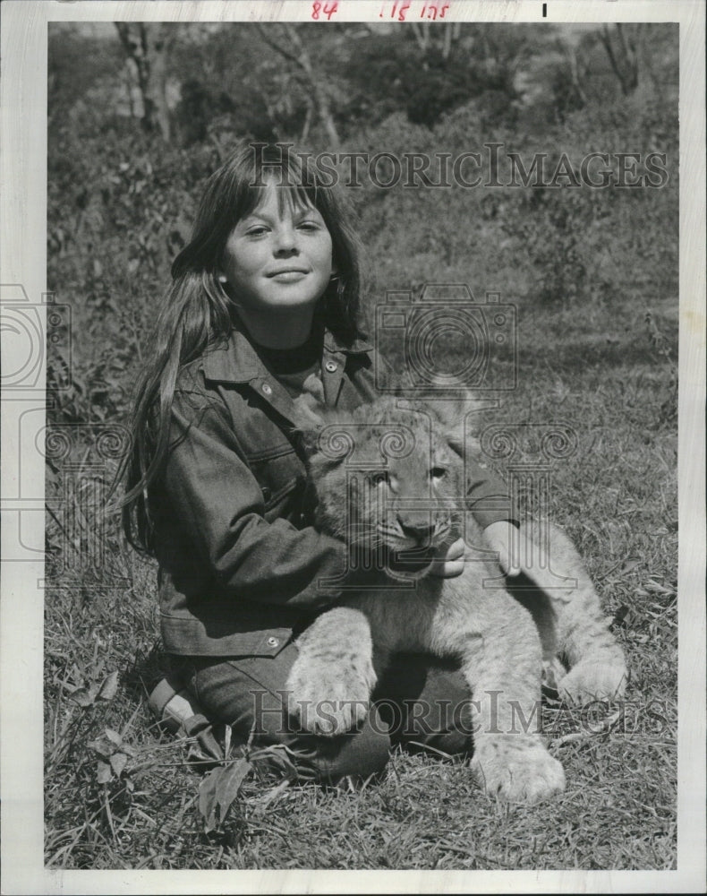
<path fill-rule="evenodd" d="M 366 718 L 375 684 L 370 659 L 346 664 L 301 654 L 287 679 L 287 710 L 311 734 L 336 737 Z"/>

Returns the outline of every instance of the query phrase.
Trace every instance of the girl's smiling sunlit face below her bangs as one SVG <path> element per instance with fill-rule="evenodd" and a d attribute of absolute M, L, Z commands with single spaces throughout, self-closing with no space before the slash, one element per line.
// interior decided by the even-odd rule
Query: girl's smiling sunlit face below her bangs
<path fill-rule="evenodd" d="M 221 274 L 246 314 L 310 309 L 327 289 L 331 234 L 319 211 L 289 199 L 270 183 L 226 241 Z"/>

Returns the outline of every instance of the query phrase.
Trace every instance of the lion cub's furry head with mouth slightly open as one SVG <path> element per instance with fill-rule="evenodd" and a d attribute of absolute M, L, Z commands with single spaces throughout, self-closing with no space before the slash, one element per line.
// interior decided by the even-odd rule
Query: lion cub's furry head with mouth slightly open
<path fill-rule="evenodd" d="M 393 400 L 329 418 L 310 459 L 319 528 L 383 556 L 388 570 L 424 574 L 456 538 L 464 500 L 463 462 L 440 429 Z"/>

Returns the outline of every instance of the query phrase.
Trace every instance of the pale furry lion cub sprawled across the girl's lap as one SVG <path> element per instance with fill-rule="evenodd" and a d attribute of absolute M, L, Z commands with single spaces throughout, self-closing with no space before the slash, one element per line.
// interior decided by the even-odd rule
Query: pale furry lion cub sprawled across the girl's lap
<path fill-rule="evenodd" d="M 358 556 L 347 581 L 359 590 L 345 590 L 300 636 L 290 713 L 313 733 L 341 734 L 365 717 L 391 654 L 456 657 L 477 713 L 472 768 L 482 786 L 528 802 L 562 790 L 565 773 L 538 731 L 543 659 L 563 654 L 570 671 L 558 687 L 575 701 L 618 696 L 626 683 L 623 652 L 575 549 L 551 530 L 552 568 L 576 587 L 532 591 L 529 609 L 507 592 L 483 549 L 456 578 L 427 575 L 435 549 L 459 535 L 483 547 L 464 512 L 464 462 L 439 412 L 380 399 L 348 414 L 322 413 L 326 425 L 305 434 L 316 524 L 345 540 L 354 564 Z"/>

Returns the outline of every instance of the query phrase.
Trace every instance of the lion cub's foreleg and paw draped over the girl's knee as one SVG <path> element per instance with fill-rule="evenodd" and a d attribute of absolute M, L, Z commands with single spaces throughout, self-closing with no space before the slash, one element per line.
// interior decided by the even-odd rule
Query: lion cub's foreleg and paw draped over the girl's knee
<path fill-rule="evenodd" d="M 334 737 L 368 713 L 376 684 L 371 626 L 360 610 L 335 607 L 297 640 L 287 678 L 288 711 L 312 734 Z"/>

